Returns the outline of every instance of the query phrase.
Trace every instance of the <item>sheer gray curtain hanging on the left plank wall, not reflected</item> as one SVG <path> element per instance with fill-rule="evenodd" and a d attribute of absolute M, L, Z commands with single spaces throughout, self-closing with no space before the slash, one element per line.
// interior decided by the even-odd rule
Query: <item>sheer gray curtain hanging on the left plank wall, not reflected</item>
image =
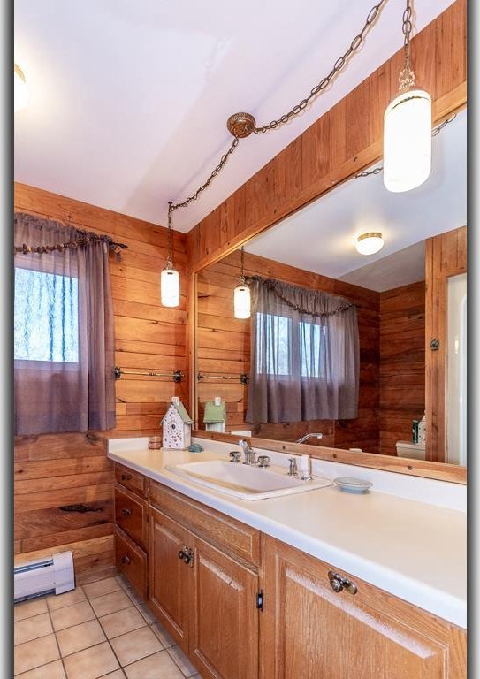
<path fill-rule="evenodd" d="M 77 230 L 17 213 L 15 246 L 77 242 Z M 16 434 L 115 426 L 113 310 L 104 240 L 15 255 Z"/>

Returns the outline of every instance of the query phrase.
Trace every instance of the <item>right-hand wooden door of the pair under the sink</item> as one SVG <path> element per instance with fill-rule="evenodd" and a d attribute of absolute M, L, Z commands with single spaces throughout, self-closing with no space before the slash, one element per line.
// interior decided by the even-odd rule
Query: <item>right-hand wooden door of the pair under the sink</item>
<path fill-rule="evenodd" d="M 255 573 L 194 538 L 190 655 L 205 679 L 258 676 L 257 591 Z"/>

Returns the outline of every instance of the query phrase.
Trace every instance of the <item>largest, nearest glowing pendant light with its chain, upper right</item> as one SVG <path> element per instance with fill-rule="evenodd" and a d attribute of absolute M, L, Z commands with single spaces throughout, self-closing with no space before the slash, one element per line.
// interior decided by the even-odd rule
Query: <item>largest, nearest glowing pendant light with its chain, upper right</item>
<path fill-rule="evenodd" d="M 410 67 L 411 0 L 403 12 L 404 65 L 399 93 L 384 116 L 384 184 L 394 193 L 410 191 L 429 178 L 431 169 L 431 97 L 415 85 Z"/>

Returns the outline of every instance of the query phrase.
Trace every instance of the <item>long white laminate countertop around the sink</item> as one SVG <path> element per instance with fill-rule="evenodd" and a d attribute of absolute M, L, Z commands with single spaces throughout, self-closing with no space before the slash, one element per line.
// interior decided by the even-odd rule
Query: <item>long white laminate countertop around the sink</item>
<path fill-rule="evenodd" d="M 340 492 L 331 485 L 268 500 L 237 500 L 165 469 L 172 464 L 226 459 L 232 448 L 232 444 L 201 442 L 206 451 L 188 453 L 148 450 L 147 439 L 110 439 L 108 456 L 448 622 L 467 627 L 465 512 L 380 492 L 375 484 L 364 495 Z M 285 454 L 271 456 L 275 464 L 287 465 Z M 314 475 L 339 476 L 335 465 L 330 469 L 329 464 L 314 461 Z M 364 469 L 352 469 L 356 476 L 365 477 Z M 392 484 L 392 473 L 382 474 L 388 474 Z M 405 477 L 399 483 L 405 484 Z M 431 482 L 430 492 L 431 488 L 435 491 L 435 483 Z M 380 482 L 377 485 L 381 487 Z"/>

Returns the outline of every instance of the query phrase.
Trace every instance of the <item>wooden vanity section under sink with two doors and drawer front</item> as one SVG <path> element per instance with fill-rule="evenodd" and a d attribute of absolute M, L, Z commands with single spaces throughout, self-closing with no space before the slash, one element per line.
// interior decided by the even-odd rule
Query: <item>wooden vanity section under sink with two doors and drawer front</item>
<path fill-rule="evenodd" d="M 155 482 L 149 499 L 150 607 L 202 677 L 255 679 L 258 531 Z"/>

